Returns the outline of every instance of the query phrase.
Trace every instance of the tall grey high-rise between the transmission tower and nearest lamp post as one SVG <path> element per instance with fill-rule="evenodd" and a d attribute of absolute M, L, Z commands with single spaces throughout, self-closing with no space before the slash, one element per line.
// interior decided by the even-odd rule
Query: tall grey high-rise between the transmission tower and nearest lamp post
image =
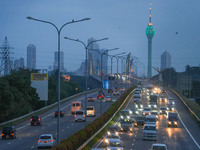
<path fill-rule="evenodd" d="M 27 68 L 36 69 L 36 46 L 34 44 L 27 46 Z"/>

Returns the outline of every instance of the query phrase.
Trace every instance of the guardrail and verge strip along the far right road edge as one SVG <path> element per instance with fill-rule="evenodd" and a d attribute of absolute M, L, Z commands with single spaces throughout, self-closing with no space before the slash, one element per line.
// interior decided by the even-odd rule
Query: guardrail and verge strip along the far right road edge
<path fill-rule="evenodd" d="M 186 108 L 195 116 L 195 118 L 200 122 L 200 106 L 189 100 L 188 98 L 180 95 L 176 90 L 171 89 L 171 91 L 181 99 L 183 104 L 186 106 Z"/>

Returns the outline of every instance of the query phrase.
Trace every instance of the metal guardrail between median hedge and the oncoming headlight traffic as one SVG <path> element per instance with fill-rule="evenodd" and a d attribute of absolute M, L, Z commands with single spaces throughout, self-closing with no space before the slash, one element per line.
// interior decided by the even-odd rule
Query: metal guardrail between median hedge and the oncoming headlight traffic
<path fill-rule="evenodd" d="M 117 109 L 117 111 L 113 114 L 113 116 L 106 122 L 106 124 L 104 124 L 104 126 L 99 129 L 93 136 L 91 136 L 83 145 L 81 145 L 78 150 L 82 150 L 93 138 L 95 138 L 107 125 L 108 123 L 115 117 L 115 115 L 118 113 L 118 111 L 123 107 L 123 105 L 126 103 L 127 99 L 130 97 L 130 95 L 133 93 L 130 92 L 129 95 L 126 97 L 126 99 L 124 100 L 124 102 L 121 104 L 121 106 Z"/>

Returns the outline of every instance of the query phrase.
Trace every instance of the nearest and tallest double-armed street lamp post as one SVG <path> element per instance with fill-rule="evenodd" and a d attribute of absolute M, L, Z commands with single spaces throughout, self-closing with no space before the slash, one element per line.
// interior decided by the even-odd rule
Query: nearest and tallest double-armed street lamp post
<path fill-rule="evenodd" d="M 72 21 L 67 22 L 64 25 L 62 25 L 60 29 L 55 24 L 53 24 L 52 22 L 49 22 L 49 21 L 36 19 L 36 18 L 30 17 L 30 16 L 26 17 L 26 18 L 30 19 L 30 20 L 50 24 L 53 27 L 55 27 L 55 29 L 58 33 L 58 113 L 59 113 L 60 112 L 60 33 L 61 33 L 63 27 L 65 27 L 68 24 L 90 20 L 91 18 L 84 18 L 84 19 L 81 19 L 81 20 L 72 20 Z M 58 115 L 58 119 L 57 119 L 57 144 L 59 144 L 59 143 L 60 143 L 60 115 Z"/>

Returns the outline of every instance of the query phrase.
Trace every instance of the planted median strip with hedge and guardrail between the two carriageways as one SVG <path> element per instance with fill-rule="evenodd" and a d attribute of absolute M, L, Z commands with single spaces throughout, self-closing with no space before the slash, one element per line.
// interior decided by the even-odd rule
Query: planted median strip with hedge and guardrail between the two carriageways
<path fill-rule="evenodd" d="M 115 117 L 118 111 L 129 99 L 135 87 L 129 88 L 103 115 L 88 124 L 85 128 L 74 133 L 51 150 L 82 150 L 96 135 L 98 135 L 108 123 Z"/>

